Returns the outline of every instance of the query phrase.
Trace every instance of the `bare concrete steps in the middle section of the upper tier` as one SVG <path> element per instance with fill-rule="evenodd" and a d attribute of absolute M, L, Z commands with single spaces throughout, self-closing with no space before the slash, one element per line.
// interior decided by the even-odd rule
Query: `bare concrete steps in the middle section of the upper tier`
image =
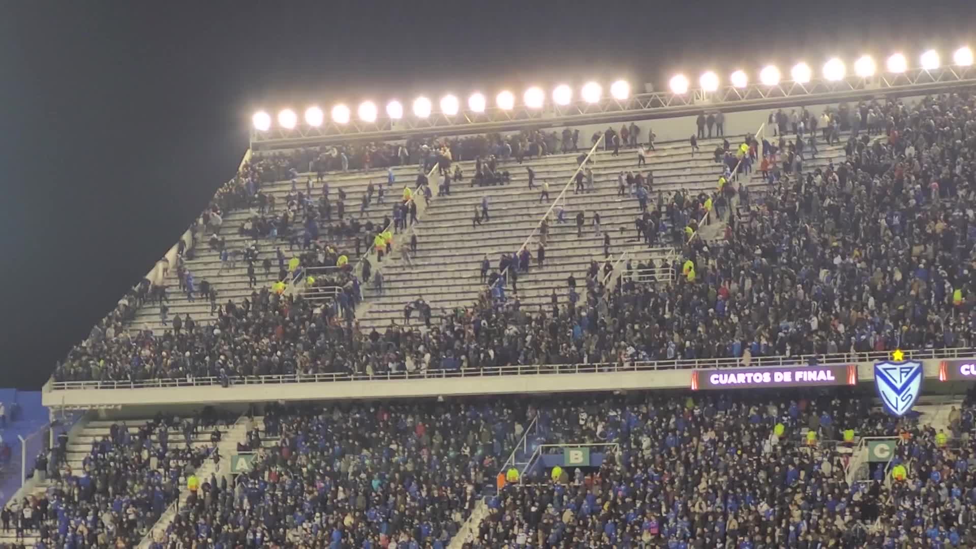
<path fill-rule="evenodd" d="M 662 147 L 649 157 L 648 168 L 654 170 L 655 176 L 652 198 L 656 199 L 659 190 L 698 192 L 714 189 L 719 165 L 712 161 L 711 155 L 692 157 L 687 148 L 685 145 Z M 637 201 L 630 196 L 617 195 L 617 175 L 621 170 L 634 167 L 634 156 L 632 151 L 626 155 L 622 152 L 617 157 L 606 151 L 595 155 L 592 166 L 595 190 L 582 194 L 574 194 L 572 190 L 567 192 L 563 200 L 565 223 L 553 222 L 549 226 L 545 267 L 536 266 L 538 235 L 530 242 L 530 272 L 521 274 L 517 284 L 517 297 L 523 307 L 549 307 L 553 290 L 565 297 L 566 279 L 570 274 L 578 278 L 579 287 L 590 261 L 604 261 L 602 235 L 597 235 L 590 225 L 592 212 L 600 214 L 601 231 L 610 232 L 610 257 L 616 258 L 637 243 L 633 226 L 638 213 Z M 829 161 L 842 158 L 842 148 L 824 146 L 818 158 L 809 161 L 806 168 L 826 166 Z M 547 156 L 531 166 L 536 171 L 537 183 L 550 181 L 549 196 L 554 199 L 575 172 L 576 156 Z M 507 165 L 506 169 L 511 171 L 511 166 Z M 370 306 L 366 314 L 359 317 L 360 325 L 368 329 L 385 327 L 390 321 L 402 324 L 404 305 L 422 297 L 431 307 L 433 317 L 438 317 L 442 310 L 468 307 L 484 287 L 479 268 L 482 258 L 487 255 L 492 267 L 497 268 L 499 255 L 516 251 L 551 204 L 551 201 L 539 202 L 538 189 L 528 189 L 524 170 L 513 172 L 511 176 L 510 185 L 504 187 L 472 189 L 468 182 L 464 182 L 452 185 L 452 195 L 448 199 L 434 198 L 425 221 L 413 229 L 418 234 L 419 244 L 410 264 L 394 251 L 382 264 L 374 265 L 375 269 L 383 270 L 384 289 L 381 293 L 370 284 L 363 286 Z M 764 186 L 765 183 L 761 176 L 753 174 L 749 185 Z M 474 208 L 484 195 L 489 196 L 490 221 L 468 229 Z M 574 218 L 580 210 L 586 212 L 586 225 L 582 236 L 577 236 Z M 711 237 L 721 234 L 720 227 L 712 224 Z M 410 323 L 418 322 L 420 319 L 414 317 Z"/>

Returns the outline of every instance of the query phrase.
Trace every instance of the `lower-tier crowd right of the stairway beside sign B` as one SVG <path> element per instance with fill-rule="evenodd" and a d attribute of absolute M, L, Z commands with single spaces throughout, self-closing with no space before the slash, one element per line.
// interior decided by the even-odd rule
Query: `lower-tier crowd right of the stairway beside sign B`
<path fill-rule="evenodd" d="M 952 435 L 968 435 L 972 404 L 954 412 Z M 560 399 L 539 417 L 548 443 L 615 445 L 594 447 L 605 455 L 592 467 L 540 467 L 503 486 L 466 547 L 976 543 L 974 440 L 872 411 L 859 394 Z M 901 443 L 848 485 L 851 444 L 836 442 L 854 433 Z M 906 477 L 886 479 L 899 465 Z"/>

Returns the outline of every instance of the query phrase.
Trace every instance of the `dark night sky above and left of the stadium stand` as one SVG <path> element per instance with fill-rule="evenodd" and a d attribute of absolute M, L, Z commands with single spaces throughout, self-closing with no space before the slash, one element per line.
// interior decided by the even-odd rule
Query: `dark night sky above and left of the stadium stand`
<path fill-rule="evenodd" d="M 974 5 L 7 0 L 0 387 L 40 387 L 176 241 L 233 174 L 258 107 L 621 76 L 660 89 L 677 70 L 754 78 L 929 47 L 946 59 L 976 47 Z"/>

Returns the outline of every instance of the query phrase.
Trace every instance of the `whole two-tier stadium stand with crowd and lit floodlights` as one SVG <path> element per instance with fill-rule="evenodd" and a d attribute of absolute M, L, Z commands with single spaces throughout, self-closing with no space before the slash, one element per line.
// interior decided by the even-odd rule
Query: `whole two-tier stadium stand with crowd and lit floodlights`
<path fill-rule="evenodd" d="M 976 546 L 949 57 L 257 113 L 56 367 L 0 545 Z"/>

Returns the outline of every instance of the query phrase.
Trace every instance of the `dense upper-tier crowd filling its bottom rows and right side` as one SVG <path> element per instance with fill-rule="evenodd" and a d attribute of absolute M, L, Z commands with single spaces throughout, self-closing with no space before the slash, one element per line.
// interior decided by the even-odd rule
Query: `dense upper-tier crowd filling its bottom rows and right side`
<path fill-rule="evenodd" d="M 632 279 L 586 300 L 557 289 L 551 311 L 490 292 L 430 329 L 362 333 L 351 318 L 256 292 L 214 326 L 181 334 L 96 334 L 60 380 L 258 373 L 367 373 L 656 359 L 834 355 L 969 347 L 976 269 L 974 98 L 929 97 L 848 109 L 879 112 L 884 139 L 851 128 L 844 162 L 781 172 L 758 197 L 677 192 L 646 204 L 672 241 L 694 234 L 712 200 L 738 202 L 718 241 L 687 240 L 674 281 Z M 875 114 L 878 116 L 878 114 Z M 839 116 L 837 116 L 839 118 Z M 875 122 L 875 126 L 877 123 Z M 751 146 L 747 146 L 747 149 Z M 778 163 L 787 152 L 764 148 Z M 657 232 L 661 232 L 660 230 Z M 594 278 L 595 282 L 595 278 Z M 572 285 L 572 283 L 570 283 Z M 135 340 L 131 339 L 135 338 Z M 135 343 L 136 345 L 132 345 Z M 269 352 L 270 351 L 270 352 Z"/>

